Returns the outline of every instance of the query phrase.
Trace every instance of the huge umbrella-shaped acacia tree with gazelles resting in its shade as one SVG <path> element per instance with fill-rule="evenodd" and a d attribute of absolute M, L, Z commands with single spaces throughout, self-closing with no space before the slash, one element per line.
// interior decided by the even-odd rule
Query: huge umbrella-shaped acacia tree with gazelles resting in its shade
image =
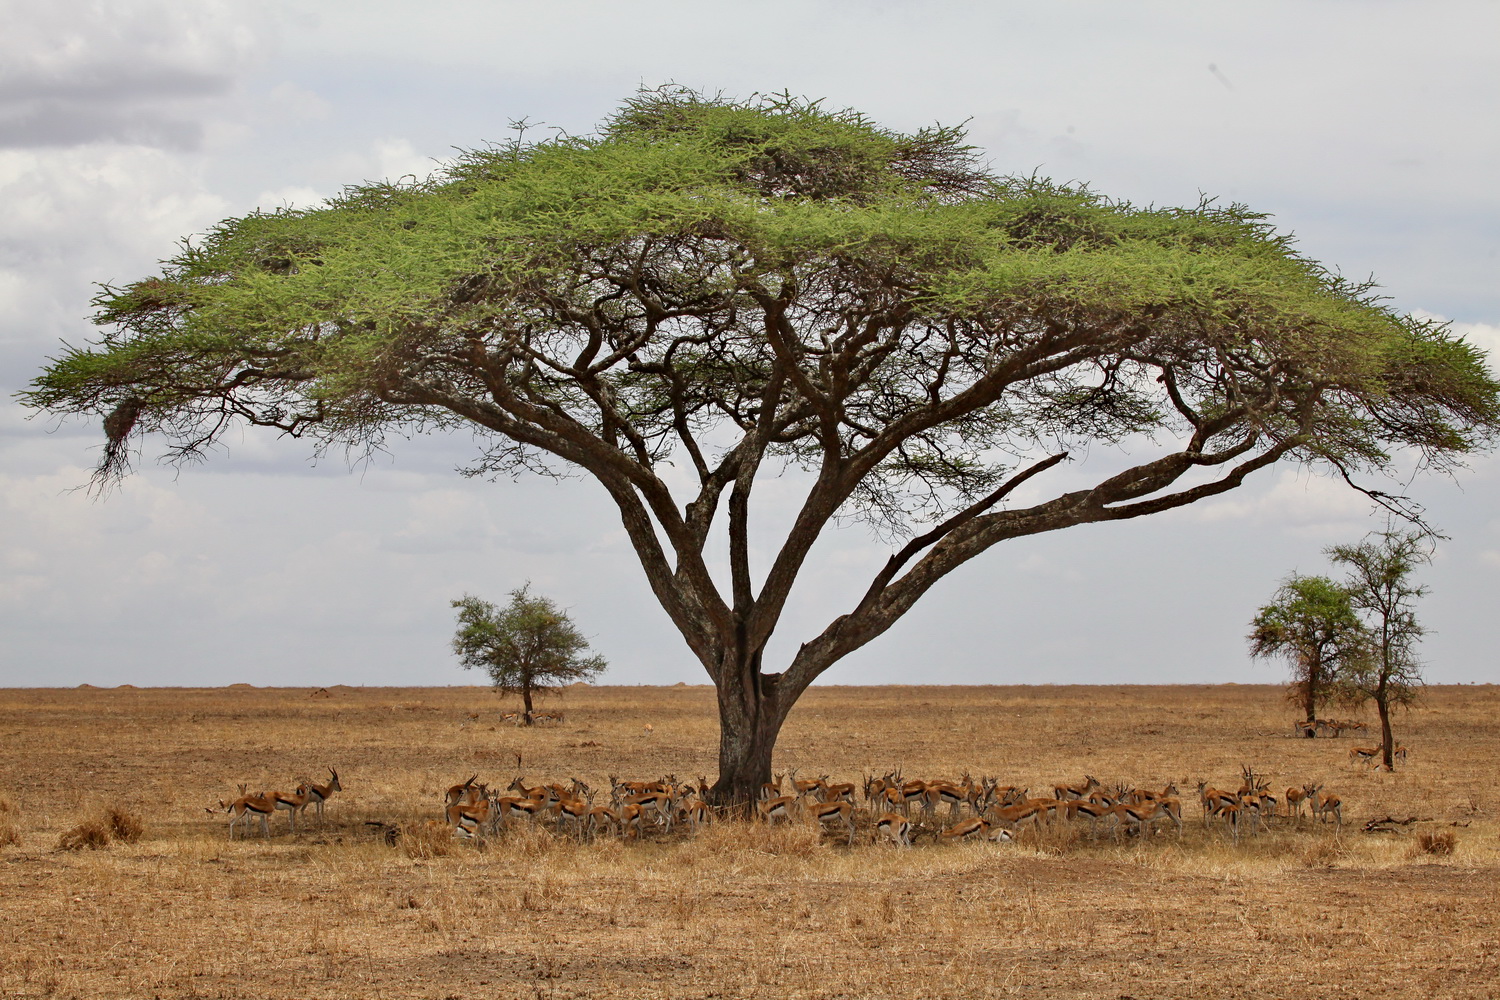
<path fill-rule="evenodd" d="M 998 543 L 1173 510 L 1282 459 L 1444 465 L 1500 421 L 1479 351 L 1242 205 L 998 177 L 960 129 L 789 96 L 644 91 L 591 136 L 522 133 L 424 181 L 230 219 L 106 288 L 96 321 L 26 399 L 106 415 L 100 483 L 142 432 L 188 459 L 237 421 L 344 447 L 466 426 L 472 475 L 597 481 L 717 687 L 717 802 L 770 778 L 813 679 Z M 1072 489 L 1046 492 L 1078 448 Z M 752 495 L 788 469 L 801 499 L 752 565 Z M 842 517 L 900 547 L 766 663 Z"/>

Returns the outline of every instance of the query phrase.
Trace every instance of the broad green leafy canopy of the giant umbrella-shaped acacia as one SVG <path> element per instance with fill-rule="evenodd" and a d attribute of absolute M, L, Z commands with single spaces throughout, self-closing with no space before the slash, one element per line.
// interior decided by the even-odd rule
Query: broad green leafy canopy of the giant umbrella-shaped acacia
<path fill-rule="evenodd" d="M 542 372 L 549 390 L 600 429 L 609 418 L 579 412 L 588 393 L 566 366 L 615 348 L 624 354 L 597 384 L 660 460 L 678 415 L 668 399 L 684 379 L 705 381 L 676 406 L 690 418 L 706 418 L 729 382 L 753 394 L 770 381 L 754 289 L 790 282 L 812 297 L 801 318 L 836 336 L 840 300 L 888 298 L 910 328 L 903 346 L 957 339 L 969 382 L 1048 330 L 1077 328 L 1095 346 L 1089 367 L 1107 372 L 1110 391 L 1054 373 L 1035 397 L 1016 393 L 926 433 L 909 463 L 882 466 L 891 483 L 926 481 L 940 454 L 1178 429 L 1178 408 L 1146 391 L 1162 364 L 1182 372 L 1197 414 L 1233 408 L 1244 375 L 1268 366 L 1320 385 L 1316 432 L 1290 412 L 1258 420 L 1306 459 L 1380 465 L 1395 445 L 1443 462 L 1491 433 L 1496 385 L 1472 346 L 1299 256 L 1264 216 L 1212 201 L 1138 208 L 994 177 L 963 138 L 897 133 L 784 94 L 644 91 L 594 136 L 522 133 L 422 181 L 225 220 L 160 276 L 105 288 L 96 321 L 110 333 L 66 349 L 26 400 L 100 414 L 135 400 L 130 430 L 164 433 L 172 457 L 200 454 L 236 420 L 358 445 L 468 418 L 400 391 L 412 372 L 472 394 L 483 379 L 460 358 L 522 349 L 564 367 Z M 639 288 L 616 277 L 628 259 L 646 265 Z M 688 288 L 693 310 L 633 303 Z M 588 312 L 640 342 L 591 346 Z M 668 334 L 682 324 L 712 342 L 676 343 L 668 373 Z M 898 370 L 906 354 L 888 352 L 849 409 L 888 420 L 922 399 L 920 366 Z M 806 429 L 770 448 L 792 460 L 819 450 Z M 526 463 L 546 447 L 506 451 L 501 465 Z M 126 457 L 111 451 L 105 472 Z"/>

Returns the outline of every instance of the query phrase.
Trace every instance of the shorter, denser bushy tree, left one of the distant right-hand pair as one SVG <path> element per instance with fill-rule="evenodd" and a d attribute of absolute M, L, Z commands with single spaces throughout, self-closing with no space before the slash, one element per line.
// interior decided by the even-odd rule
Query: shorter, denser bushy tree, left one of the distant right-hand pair
<path fill-rule="evenodd" d="M 1312 736 L 1311 723 L 1334 696 L 1335 678 L 1365 646 L 1365 628 L 1350 588 L 1323 576 L 1293 574 L 1256 615 L 1246 639 L 1250 655 L 1292 663 L 1287 697 L 1302 706 L 1306 735 Z"/>

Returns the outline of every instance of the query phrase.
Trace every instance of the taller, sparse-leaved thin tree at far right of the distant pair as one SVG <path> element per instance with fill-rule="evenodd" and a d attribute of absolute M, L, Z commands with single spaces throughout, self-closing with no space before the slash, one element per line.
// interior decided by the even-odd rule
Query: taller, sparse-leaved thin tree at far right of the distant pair
<path fill-rule="evenodd" d="M 1332 546 L 1324 552 L 1334 562 L 1348 567 L 1353 604 L 1365 615 L 1370 630 L 1368 654 L 1346 664 L 1340 687 L 1354 703 L 1376 703 L 1382 763 L 1392 771 L 1390 708 L 1412 705 L 1422 688 L 1416 643 L 1426 630 L 1418 624 L 1412 606 L 1426 588 L 1413 585 L 1410 577 L 1416 567 L 1432 561 L 1432 543 L 1419 531 L 1383 531 L 1358 546 Z"/>

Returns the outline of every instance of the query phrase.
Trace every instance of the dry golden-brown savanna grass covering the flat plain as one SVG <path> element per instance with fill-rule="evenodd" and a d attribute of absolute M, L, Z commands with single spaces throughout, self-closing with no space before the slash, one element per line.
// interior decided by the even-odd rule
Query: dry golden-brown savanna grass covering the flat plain
<path fill-rule="evenodd" d="M 480 688 L 0 691 L 3 997 L 1494 997 L 1500 688 L 1430 688 L 1395 774 L 1298 739 L 1270 687 L 814 688 L 777 766 L 858 781 L 1092 774 L 1185 831 L 854 847 L 806 825 L 462 843 L 442 790 L 708 775 L 704 687 L 574 688 L 518 729 Z M 1342 829 L 1238 846 L 1194 786 L 1323 783 Z M 344 792 L 228 838 L 236 786 Z M 110 810 L 141 826 L 110 820 Z M 1389 832 L 1365 834 L 1376 819 Z M 1404 822 L 1412 820 L 1414 822 Z M 93 823 L 102 850 L 58 850 Z M 144 831 L 142 831 L 144 828 Z M 8 837 L 6 831 L 14 831 Z M 130 840 L 129 831 L 138 832 Z M 242 831 L 237 831 L 242 832 Z"/>

